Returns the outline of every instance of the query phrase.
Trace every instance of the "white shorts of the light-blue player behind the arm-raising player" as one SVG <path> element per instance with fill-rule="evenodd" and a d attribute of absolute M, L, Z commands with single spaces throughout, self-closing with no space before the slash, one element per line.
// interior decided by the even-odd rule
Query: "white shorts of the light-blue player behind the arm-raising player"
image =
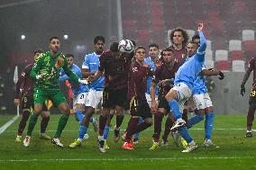
<path fill-rule="evenodd" d="M 212 107 L 213 103 L 209 96 L 209 94 L 194 94 L 193 95 L 196 108 L 199 109 L 206 109 L 207 107 Z"/>

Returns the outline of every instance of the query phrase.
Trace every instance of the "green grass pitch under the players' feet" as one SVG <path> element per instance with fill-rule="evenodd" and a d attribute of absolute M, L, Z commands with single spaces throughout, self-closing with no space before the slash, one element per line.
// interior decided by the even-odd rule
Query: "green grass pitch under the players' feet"
<path fill-rule="evenodd" d="M 11 119 L 10 116 L 0 116 L 0 123 Z M 124 130 L 129 116 L 123 121 Z M 20 119 L 19 119 L 20 120 Z M 71 149 L 69 144 L 78 137 L 78 122 L 69 118 L 61 141 L 64 149 L 54 147 L 49 140 L 39 139 L 39 119 L 33 131 L 29 148 L 22 143 L 15 143 L 18 122 L 15 121 L 0 135 L 0 169 L 255 169 L 256 140 L 255 137 L 245 139 L 244 115 L 217 115 L 213 141 L 219 148 L 203 148 L 205 131 L 204 122 L 189 130 L 197 141 L 199 148 L 191 153 L 181 153 L 181 148 L 172 144 L 169 137 L 168 148 L 149 150 L 153 127 L 142 132 L 140 143 L 134 150 L 121 149 L 122 142 L 113 140 L 113 128 L 108 137 L 109 150 L 102 154 L 97 149 L 97 134 L 89 128 L 90 139 L 82 147 Z M 53 135 L 57 129 L 59 115 L 51 115 L 48 134 Z M 165 120 L 163 121 L 165 122 Z M 114 120 L 112 122 L 114 125 Z M 164 123 L 162 123 L 164 124 Z M 163 126 L 162 126 L 163 127 Z M 26 131 L 26 130 L 25 130 Z M 25 133 L 23 133 L 25 134 Z"/>

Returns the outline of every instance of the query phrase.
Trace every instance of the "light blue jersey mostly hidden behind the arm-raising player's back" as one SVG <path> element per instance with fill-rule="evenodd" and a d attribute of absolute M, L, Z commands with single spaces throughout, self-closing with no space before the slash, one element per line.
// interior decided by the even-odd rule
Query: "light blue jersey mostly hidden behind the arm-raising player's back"
<path fill-rule="evenodd" d="M 206 67 L 202 67 L 201 71 L 206 69 Z M 206 87 L 206 76 L 198 75 L 193 87 L 193 94 L 206 94 L 207 93 L 207 87 Z"/>

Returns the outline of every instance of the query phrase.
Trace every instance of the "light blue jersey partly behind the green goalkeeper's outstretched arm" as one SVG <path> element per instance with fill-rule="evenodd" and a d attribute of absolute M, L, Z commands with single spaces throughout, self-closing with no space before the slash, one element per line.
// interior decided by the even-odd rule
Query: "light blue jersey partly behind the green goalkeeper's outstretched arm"
<path fill-rule="evenodd" d="M 82 72 L 81 72 L 81 69 L 73 64 L 72 67 L 70 68 L 71 71 L 73 73 L 75 73 L 79 78 L 82 77 Z M 60 73 L 59 73 L 59 81 L 60 82 L 64 82 L 65 80 L 68 80 L 70 85 L 71 85 L 71 88 L 72 88 L 72 94 L 73 96 L 77 96 L 78 94 L 81 94 L 81 93 L 86 93 L 89 89 L 88 89 L 88 86 L 87 85 L 83 85 L 83 84 L 78 84 L 76 82 L 73 82 L 72 80 L 69 79 L 69 76 L 65 74 L 64 70 L 61 69 L 60 70 Z"/>

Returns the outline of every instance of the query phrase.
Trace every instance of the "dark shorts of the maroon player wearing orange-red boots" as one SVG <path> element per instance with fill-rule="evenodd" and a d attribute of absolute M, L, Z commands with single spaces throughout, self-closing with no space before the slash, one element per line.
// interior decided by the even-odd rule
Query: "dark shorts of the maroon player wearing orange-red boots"
<path fill-rule="evenodd" d="M 140 100 L 133 97 L 130 100 L 130 112 L 132 116 L 140 116 L 142 119 L 152 118 L 151 108 L 146 99 Z"/>

